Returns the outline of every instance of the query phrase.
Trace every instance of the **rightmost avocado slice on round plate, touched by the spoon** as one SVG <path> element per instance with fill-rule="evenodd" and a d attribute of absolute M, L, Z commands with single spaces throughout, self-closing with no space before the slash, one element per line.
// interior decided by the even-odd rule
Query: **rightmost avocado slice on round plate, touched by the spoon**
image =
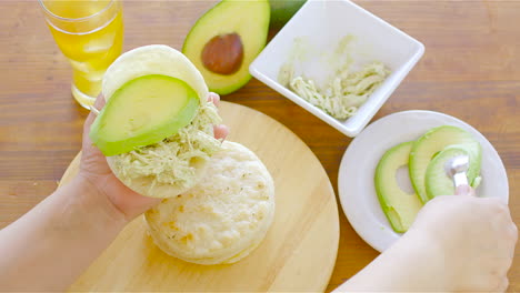
<path fill-rule="evenodd" d="M 441 151 L 428 164 L 426 172 L 426 191 L 429 199 L 439 195 L 453 195 L 454 185 L 453 179 L 446 173 L 446 163 L 457 155 L 469 155 L 463 145 L 450 145 Z M 479 166 L 480 172 L 480 166 Z"/>

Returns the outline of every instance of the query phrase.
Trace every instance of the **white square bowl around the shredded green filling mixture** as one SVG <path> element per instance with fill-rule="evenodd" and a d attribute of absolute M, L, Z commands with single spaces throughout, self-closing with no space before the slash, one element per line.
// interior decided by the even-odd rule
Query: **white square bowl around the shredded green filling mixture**
<path fill-rule="evenodd" d="M 323 77 L 333 73 L 330 69 L 332 62 L 319 60 L 323 59 L 323 53 L 327 54 L 329 51 L 332 53 L 346 36 L 352 36 L 356 40 L 349 44 L 349 54 L 354 67 L 370 61 L 380 61 L 391 70 L 391 74 L 353 117 L 340 121 L 284 88 L 278 82 L 278 74 L 280 68 L 292 58 L 291 54 L 294 54 L 294 40 L 304 38 L 308 43 L 318 48 L 320 53 L 314 54 L 316 58 L 311 55 L 300 60 L 299 73 L 311 79 L 323 80 Z M 340 132 L 348 137 L 356 137 L 423 53 L 424 46 L 421 42 L 351 1 L 309 0 L 254 59 L 249 71 L 254 78 Z"/>

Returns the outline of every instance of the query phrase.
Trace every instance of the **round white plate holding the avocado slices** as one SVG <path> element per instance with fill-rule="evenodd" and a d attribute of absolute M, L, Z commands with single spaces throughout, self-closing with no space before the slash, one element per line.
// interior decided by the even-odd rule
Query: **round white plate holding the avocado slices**
<path fill-rule="evenodd" d="M 429 129 L 456 125 L 469 131 L 482 146 L 482 183 L 478 196 L 509 201 L 508 175 L 491 143 L 476 129 L 453 117 L 431 111 L 404 111 L 370 124 L 349 145 L 341 160 L 338 190 L 343 212 L 356 232 L 373 249 L 384 251 L 396 233 L 379 205 L 373 176 L 383 153 L 391 146 L 418 139 Z"/>

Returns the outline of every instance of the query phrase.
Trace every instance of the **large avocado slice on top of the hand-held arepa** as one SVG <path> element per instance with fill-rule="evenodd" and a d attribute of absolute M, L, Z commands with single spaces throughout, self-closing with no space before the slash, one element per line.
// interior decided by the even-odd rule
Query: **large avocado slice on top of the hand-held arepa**
<path fill-rule="evenodd" d="M 150 74 L 124 83 L 108 100 L 90 139 L 109 156 L 157 143 L 188 125 L 199 97 L 184 81 Z"/>

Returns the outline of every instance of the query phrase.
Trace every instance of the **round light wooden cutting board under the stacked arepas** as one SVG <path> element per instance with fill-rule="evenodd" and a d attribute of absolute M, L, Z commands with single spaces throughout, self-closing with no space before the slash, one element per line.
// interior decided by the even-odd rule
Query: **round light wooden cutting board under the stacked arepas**
<path fill-rule="evenodd" d="M 197 265 L 159 250 L 144 220 L 131 222 L 70 291 L 323 291 L 336 262 L 338 206 L 312 151 L 276 120 L 221 102 L 228 140 L 251 149 L 276 184 L 274 222 L 260 246 L 230 265 Z M 80 154 L 61 184 L 78 172 Z"/>

